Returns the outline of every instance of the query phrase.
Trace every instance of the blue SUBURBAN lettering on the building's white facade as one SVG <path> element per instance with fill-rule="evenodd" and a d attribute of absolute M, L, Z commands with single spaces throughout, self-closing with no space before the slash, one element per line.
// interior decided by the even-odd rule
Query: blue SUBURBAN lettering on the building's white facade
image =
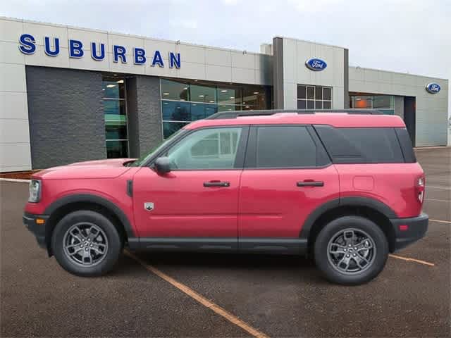
<path fill-rule="evenodd" d="M 20 35 L 19 38 L 19 50 L 23 54 L 35 54 L 37 45 L 35 37 L 30 34 Z M 90 42 L 90 54 L 95 61 L 104 61 L 106 56 L 105 44 Z M 60 53 L 60 44 L 58 37 L 44 37 L 44 52 L 48 56 L 55 57 Z M 113 62 L 116 63 L 128 63 L 127 50 L 124 46 L 113 44 L 111 46 L 111 52 L 113 53 Z M 70 58 L 82 58 L 85 56 L 85 46 L 81 41 L 69 39 L 68 41 L 68 53 Z M 153 51 L 152 54 L 146 54 L 146 51 L 142 48 L 135 47 L 132 50 L 131 56 L 135 65 L 144 65 L 148 62 L 152 67 L 159 65 L 164 67 L 163 57 L 160 51 Z M 169 68 L 180 68 L 180 53 L 168 53 Z"/>

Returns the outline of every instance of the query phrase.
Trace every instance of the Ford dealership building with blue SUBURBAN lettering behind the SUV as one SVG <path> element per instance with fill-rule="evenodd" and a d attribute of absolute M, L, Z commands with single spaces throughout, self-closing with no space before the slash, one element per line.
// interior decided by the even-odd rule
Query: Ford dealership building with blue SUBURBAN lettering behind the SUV
<path fill-rule="evenodd" d="M 448 80 L 268 42 L 252 53 L 0 18 L 0 172 L 138 157 L 218 111 L 376 108 L 403 118 L 415 146 L 447 144 Z"/>

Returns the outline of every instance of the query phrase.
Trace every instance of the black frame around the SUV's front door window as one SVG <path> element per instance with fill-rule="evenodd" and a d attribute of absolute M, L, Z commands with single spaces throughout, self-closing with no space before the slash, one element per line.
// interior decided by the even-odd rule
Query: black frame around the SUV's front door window
<path fill-rule="evenodd" d="M 161 149 L 158 153 L 154 154 L 152 158 L 144 163 L 142 166 L 146 166 L 154 169 L 154 164 L 157 158 L 166 154 L 173 146 L 177 146 L 180 142 L 183 142 L 183 139 L 193 134 L 194 132 L 198 132 L 200 130 L 209 130 L 209 129 L 225 129 L 225 128 L 241 128 L 241 137 L 240 141 L 237 143 L 237 152 L 235 156 L 235 163 L 233 163 L 233 168 L 207 168 L 207 169 L 171 169 L 171 171 L 218 171 L 218 170 L 242 170 L 244 168 L 245 163 L 245 155 L 247 151 L 247 142 L 249 139 L 249 125 L 212 125 L 209 127 L 200 127 L 192 130 L 187 130 L 183 134 L 180 134 L 176 139 L 171 140 L 168 144 Z"/>

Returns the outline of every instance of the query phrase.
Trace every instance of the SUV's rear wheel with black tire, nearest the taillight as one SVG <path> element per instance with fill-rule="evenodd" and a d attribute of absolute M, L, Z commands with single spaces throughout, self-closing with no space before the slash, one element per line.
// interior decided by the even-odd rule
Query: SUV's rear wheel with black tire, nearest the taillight
<path fill-rule="evenodd" d="M 368 241 L 365 241 L 365 236 L 369 237 Z M 354 239 L 354 242 L 362 239 L 359 242 L 361 246 L 352 245 L 349 248 Z M 342 245 L 343 243 L 345 245 Z M 366 249 L 365 246 L 374 246 L 374 250 Z M 364 249 L 359 249 L 361 247 Z M 330 253 L 329 250 L 334 252 Z M 356 254 L 357 257 L 353 258 Z M 369 263 L 366 263 L 362 256 Z M 331 221 L 319 232 L 314 244 L 314 258 L 316 266 L 329 282 L 342 285 L 364 284 L 373 280 L 383 270 L 388 258 L 388 242 L 381 228 L 371 220 L 359 216 L 344 216 Z M 360 265 L 364 265 L 363 268 Z M 346 271 L 347 268 L 350 268 L 350 271 Z"/>

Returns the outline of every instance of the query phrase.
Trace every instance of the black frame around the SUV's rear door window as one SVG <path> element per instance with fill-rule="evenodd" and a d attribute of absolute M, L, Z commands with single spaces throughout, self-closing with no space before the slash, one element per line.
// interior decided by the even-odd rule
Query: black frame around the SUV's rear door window
<path fill-rule="evenodd" d="M 257 129 L 259 127 L 304 127 L 316 146 L 316 165 L 295 167 L 257 167 Z M 325 164 L 318 164 L 324 162 Z M 321 169 L 332 165 L 328 152 L 323 146 L 312 125 L 308 124 L 280 124 L 280 125 L 251 125 L 247 142 L 245 170 L 288 170 L 288 169 Z"/>

